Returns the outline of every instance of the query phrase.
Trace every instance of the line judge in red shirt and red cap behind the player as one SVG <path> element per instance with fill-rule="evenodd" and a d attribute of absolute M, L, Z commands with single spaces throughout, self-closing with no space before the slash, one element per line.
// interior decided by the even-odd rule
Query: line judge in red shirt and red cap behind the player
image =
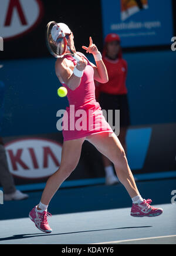
<path fill-rule="evenodd" d="M 119 35 L 109 34 L 105 38 L 103 62 L 107 68 L 109 81 L 105 84 L 96 83 L 96 98 L 102 110 L 113 110 L 113 125 L 115 110 L 120 110 L 119 140 L 126 152 L 126 133 L 130 125 L 126 87 L 127 62 L 122 58 Z M 113 165 L 106 156 L 103 156 L 103 163 L 106 173 L 106 184 L 113 185 L 117 183 L 118 179 L 114 175 Z"/>

